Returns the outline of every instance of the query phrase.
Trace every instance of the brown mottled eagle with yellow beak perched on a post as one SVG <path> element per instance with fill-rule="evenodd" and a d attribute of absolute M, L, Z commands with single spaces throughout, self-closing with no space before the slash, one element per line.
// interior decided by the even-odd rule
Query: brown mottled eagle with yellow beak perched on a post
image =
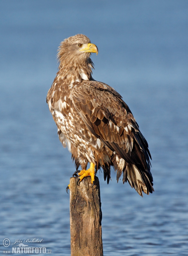
<path fill-rule="evenodd" d="M 108 184 L 112 166 L 117 181 L 123 174 L 123 183 L 128 181 L 140 196 L 152 193 L 148 143 L 122 96 L 93 79 L 91 53 L 98 54 L 98 48 L 85 35 L 61 42 L 59 69 L 46 97 L 60 142 L 75 160 L 73 176 L 79 175 L 78 185 L 87 176 L 94 184 L 97 170 L 102 168 Z"/>

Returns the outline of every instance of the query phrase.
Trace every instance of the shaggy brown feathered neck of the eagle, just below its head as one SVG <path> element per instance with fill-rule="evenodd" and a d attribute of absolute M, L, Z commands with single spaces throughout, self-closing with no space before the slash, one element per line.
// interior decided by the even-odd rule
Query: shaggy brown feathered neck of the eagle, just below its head
<path fill-rule="evenodd" d="M 93 62 L 90 58 L 61 60 L 57 79 L 63 80 L 64 84 L 74 85 L 83 80 L 92 80 Z"/>

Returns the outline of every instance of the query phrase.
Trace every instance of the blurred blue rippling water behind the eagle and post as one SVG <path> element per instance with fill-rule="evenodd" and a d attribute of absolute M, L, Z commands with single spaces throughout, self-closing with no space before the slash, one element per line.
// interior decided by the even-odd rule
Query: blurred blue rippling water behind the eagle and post
<path fill-rule="evenodd" d="M 1 254 L 38 238 L 70 255 L 75 167 L 46 95 L 60 42 L 82 33 L 99 49 L 94 79 L 123 96 L 153 159 L 155 192 L 143 198 L 98 172 L 104 255 L 188 255 L 188 1 L 1 0 L 0 21 Z"/>

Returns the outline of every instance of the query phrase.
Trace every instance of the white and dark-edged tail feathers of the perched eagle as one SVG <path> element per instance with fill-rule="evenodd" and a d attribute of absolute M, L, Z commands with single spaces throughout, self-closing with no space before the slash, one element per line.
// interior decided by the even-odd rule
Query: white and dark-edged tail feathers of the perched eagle
<path fill-rule="evenodd" d="M 127 169 L 123 171 L 123 183 L 127 182 L 134 188 L 140 196 L 143 197 L 142 191 L 149 195 L 154 191 L 151 173 L 139 171 L 134 164 L 128 164 Z"/>

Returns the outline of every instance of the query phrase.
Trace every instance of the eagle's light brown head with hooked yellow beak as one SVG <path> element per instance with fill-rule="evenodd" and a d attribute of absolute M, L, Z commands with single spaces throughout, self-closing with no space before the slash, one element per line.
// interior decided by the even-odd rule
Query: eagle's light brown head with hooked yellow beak
<path fill-rule="evenodd" d="M 91 53 L 98 54 L 98 48 L 90 39 L 82 34 L 66 38 L 58 49 L 59 69 L 71 66 L 82 66 L 85 63 L 92 64 Z M 93 65 L 91 66 L 93 68 Z"/>

